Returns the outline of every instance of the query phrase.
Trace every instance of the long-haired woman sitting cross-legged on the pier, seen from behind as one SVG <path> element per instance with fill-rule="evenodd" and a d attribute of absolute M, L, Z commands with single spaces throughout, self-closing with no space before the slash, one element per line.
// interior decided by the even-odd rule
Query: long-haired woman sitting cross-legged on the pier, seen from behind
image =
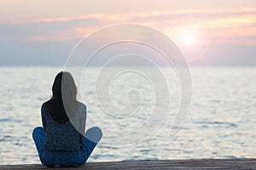
<path fill-rule="evenodd" d="M 86 106 L 76 99 L 77 88 L 68 72 L 55 77 L 52 98 L 41 108 L 43 127 L 36 127 L 32 137 L 40 161 L 47 167 L 77 167 L 87 161 L 102 138 L 99 127 L 84 134 Z"/>

